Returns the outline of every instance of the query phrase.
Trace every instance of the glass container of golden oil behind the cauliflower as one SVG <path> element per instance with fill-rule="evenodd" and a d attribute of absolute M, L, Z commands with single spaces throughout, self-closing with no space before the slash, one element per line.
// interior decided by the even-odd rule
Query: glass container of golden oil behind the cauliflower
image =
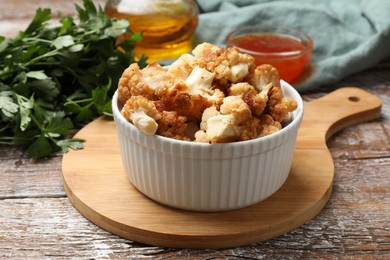
<path fill-rule="evenodd" d="M 105 12 L 128 18 L 133 32 L 142 31 L 134 51 L 148 62 L 172 60 L 193 48 L 199 10 L 192 0 L 108 0 Z"/>

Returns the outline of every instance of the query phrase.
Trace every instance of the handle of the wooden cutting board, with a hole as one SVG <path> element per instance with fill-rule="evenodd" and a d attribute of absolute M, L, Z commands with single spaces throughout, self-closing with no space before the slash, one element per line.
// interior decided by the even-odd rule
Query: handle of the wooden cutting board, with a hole
<path fill-rule="evenodd" d="M 314 101 L 305 102 L 303 123 L 328 140 L 337 131 L 378 118 L 382 100 L 357 87 L 343 87 Z M 309 109 L 308 109 L 309 108 Z"/>

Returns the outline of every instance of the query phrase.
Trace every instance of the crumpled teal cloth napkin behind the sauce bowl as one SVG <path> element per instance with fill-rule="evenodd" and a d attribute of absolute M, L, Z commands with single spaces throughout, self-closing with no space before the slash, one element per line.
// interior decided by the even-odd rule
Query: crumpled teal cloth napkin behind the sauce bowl
<path fill-rule="evenodd" d="M 314 42 L 312 74 L 294 86 L 316 90 L 390 56 L 388 0 L 198 0 L 196 35 L 220 46 L 244 25 L 300 29 Z"/>

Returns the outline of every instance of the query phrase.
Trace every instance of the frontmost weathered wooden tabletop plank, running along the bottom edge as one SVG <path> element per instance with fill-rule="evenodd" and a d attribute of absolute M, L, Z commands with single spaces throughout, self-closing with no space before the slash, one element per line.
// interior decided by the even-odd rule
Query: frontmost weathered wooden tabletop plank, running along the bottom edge
<path fill-rule="evenodd" d="M 330 204 L 331 205 L 331 204 Z M 91 224 L 66 198 L 0 201 L 0 258 L 246 258 L 376 257 L 390 252 L 382 214 L 326 208 L 302 228 L 264 243 L 224 250 L 176 250 L 118 238 Z M 15 210 L 17 208 L 18 210 Z M 348 214 L 345 214 L 348 213 Z M 367 220 L 370 221 L 367 221 Z M 324 225 L 327 223 L 327 225 Z M 385 226 L 384 226 L 385 225 Z"/>

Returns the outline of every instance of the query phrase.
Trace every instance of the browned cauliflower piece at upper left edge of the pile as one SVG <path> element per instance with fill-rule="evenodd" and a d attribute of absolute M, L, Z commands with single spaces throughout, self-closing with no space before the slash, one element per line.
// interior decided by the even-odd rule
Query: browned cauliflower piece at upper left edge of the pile
<path fill-rule="evenodd" d="M 167 72 L 158 63 L 150 63 L 142 70 L 137 63 L 133 63 L 119 79 L 118 99 L 122 104 L 137 95 L 155 100 L 156 89 L 168 84 L 168 81 Z"/>

